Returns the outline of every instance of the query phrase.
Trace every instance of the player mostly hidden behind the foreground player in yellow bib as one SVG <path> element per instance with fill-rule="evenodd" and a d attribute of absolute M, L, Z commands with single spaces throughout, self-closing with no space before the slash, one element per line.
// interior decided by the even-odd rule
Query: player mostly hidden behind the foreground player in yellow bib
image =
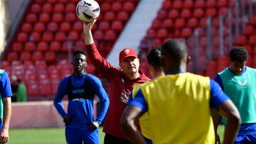
<path fill-rule="evenodd" d="M 147 55 L 147 62 L 149 64 L 149 72 L 153 76 L 153 79 L 156 77 L 164 76 L 164 70 L 161 67 L 160 58 L 161 58 L 161 46 L 157 46 L 156 48 L 153 48 L 149 51 L 149 54 Z M 134 89 L 132 89 L 132 96 L 130 97 L 129 101 L 132 101 L 134 98 L 134 95 L 137 93 L 137 91 L 144 87 L 144 85 L 148 84 L 149 82 L 145 82 L 140 85 L 134 86 Z M 139 118 L 139 126 L 142 131 L 142 135 L 144 139 L 146 140 L 146 143 L 152 143 L 151 142 L 151 131 L 150 131 L 150 122 L 149 122 L 149 113 L 144 113 L 141 118 Z"/>

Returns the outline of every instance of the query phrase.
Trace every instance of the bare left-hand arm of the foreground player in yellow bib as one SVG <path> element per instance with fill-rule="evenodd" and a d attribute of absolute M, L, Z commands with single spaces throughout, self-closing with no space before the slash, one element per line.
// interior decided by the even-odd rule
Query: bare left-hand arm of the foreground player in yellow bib
<path fill-rule="evenodd" d="M 137 106 L 129 105 L 124 110 L 121 118 L 121 126 L 124 134 L 131 140 L 132 143 L 146 144 L 142 134 L 136 127 L 136 122 L 142 115 L 142 109 Z"/>

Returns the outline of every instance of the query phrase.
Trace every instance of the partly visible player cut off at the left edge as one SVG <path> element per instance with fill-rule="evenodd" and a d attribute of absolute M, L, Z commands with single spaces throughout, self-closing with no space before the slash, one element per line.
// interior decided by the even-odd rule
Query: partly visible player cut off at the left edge
<path fill-rule="evenodd" d="M 0 143 L 9 141 L 11 120 L 11 82 L 5 70 L 0 69 Z M 2 105 L 4 104 L 4 106 Z M 3 117 L 4 115 L 4 117 Z"/>

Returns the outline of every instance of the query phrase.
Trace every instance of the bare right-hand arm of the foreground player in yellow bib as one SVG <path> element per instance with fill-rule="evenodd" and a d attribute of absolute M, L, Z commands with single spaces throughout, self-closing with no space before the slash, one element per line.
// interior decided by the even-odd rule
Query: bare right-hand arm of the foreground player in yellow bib
<path fill-rule="evenodd" d="M 220 112 L 220 115 L 228 121 L 225 127 L 223 144 L 234 143 L 241 124 L 240 113 L 230 100 L 224 101 L 220 104 L 218 111 Z"/>

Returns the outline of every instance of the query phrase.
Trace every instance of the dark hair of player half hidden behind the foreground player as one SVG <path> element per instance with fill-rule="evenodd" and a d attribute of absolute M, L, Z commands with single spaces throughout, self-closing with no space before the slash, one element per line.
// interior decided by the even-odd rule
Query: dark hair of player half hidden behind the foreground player
<path fill-rule="evenodd" d="M 161 70 L 161 45 L 150 50 L 146 58 L 149 65 L 154 67 L 154 69 Z"/>

